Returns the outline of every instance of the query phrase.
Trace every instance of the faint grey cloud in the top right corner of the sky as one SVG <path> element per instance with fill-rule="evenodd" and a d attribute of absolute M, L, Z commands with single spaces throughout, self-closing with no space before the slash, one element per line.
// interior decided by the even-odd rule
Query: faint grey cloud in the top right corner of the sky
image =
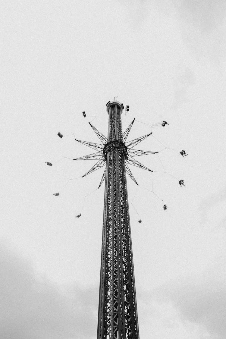
<path fill-rule="evenodd" d="M 173 0 L 180 31 L 188 48 L 202 64 L 220 65 L 225 55 L 225 1 Z"/>

